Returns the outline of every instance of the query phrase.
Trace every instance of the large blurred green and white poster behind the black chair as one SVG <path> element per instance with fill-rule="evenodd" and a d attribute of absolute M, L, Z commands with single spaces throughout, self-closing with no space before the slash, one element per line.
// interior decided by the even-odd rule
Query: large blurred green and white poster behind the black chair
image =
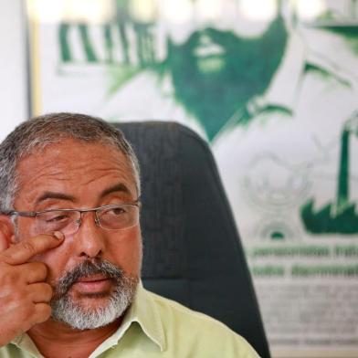
<path fill-rule="evenodd" d="M 357 357 L 358 2 L 27 10 L 32 114 L 194 129 L 216 157 L 273 356 Z"/>

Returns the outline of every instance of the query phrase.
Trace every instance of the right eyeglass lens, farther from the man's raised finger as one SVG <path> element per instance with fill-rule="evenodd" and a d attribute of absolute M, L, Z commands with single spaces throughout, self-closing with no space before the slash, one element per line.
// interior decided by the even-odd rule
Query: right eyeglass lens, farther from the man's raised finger
<path fill-rule="evenodd" d="M 139 220 L 137 205 L 111 205 L 97 211 L 100 226 L 110 230 L 120 230 L 136 226 Z"/>

